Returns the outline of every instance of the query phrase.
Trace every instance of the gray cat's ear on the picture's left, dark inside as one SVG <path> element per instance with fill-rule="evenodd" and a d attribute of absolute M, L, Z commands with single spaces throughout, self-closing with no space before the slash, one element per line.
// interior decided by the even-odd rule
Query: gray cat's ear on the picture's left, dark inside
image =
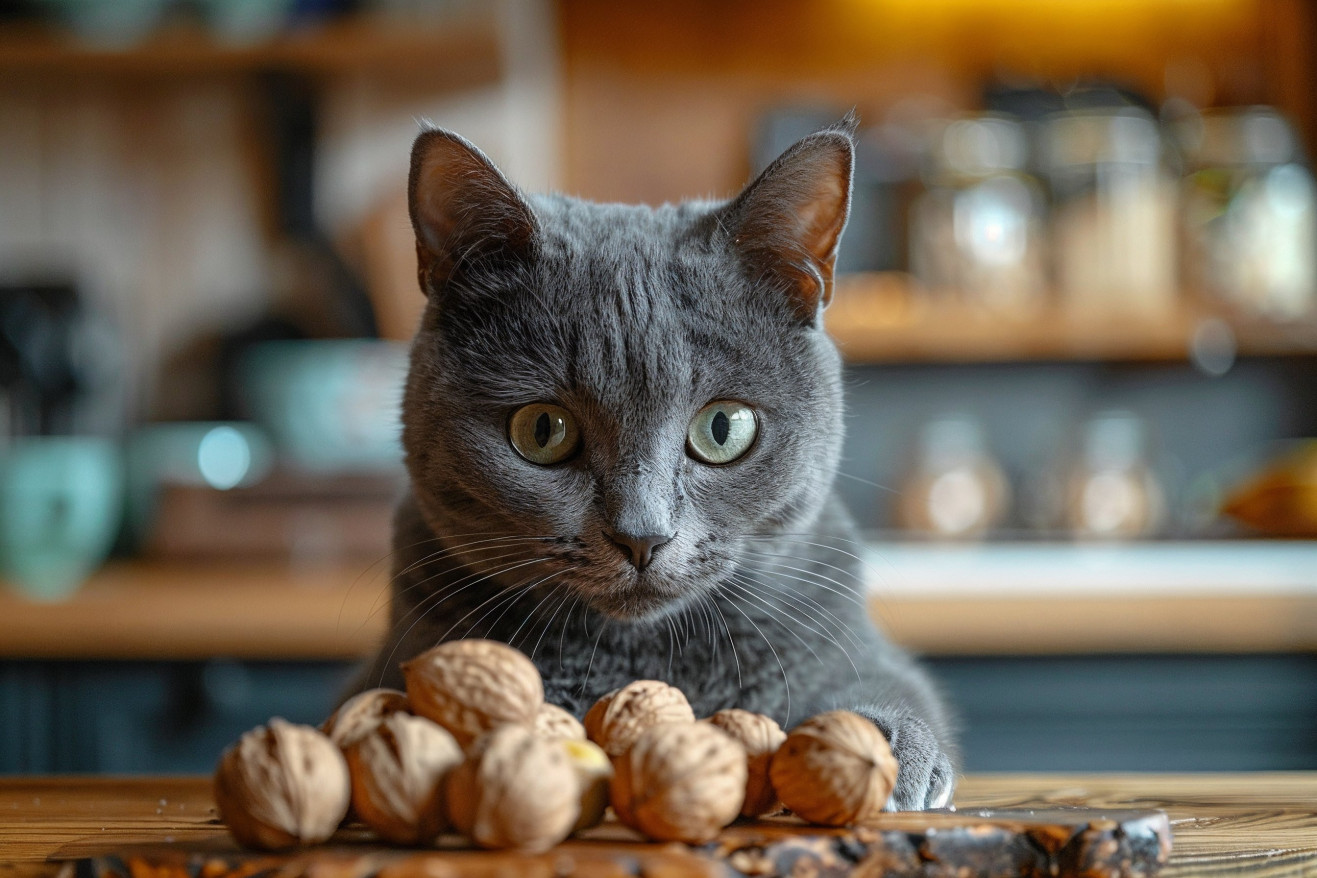
<path fill-rule="evenodd" d="M 412 145 L 407 209 L 427 296 L 465 266 L 525 257 L 535 241 L 535 213 L 516 187 L 475 146 L 443 129 L 421 132 Z"/>

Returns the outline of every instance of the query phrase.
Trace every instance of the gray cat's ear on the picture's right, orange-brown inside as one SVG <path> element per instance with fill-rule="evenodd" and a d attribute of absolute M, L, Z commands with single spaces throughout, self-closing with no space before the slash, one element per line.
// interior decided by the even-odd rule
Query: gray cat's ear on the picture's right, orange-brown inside
<path fill-rule="evenodd" d="M 856 118 L 798 141 L 723 208 L 722 225 L 756 279 L 784 288 L 801 320 L 832 299 L 836 246 L 851 209 Z"/>

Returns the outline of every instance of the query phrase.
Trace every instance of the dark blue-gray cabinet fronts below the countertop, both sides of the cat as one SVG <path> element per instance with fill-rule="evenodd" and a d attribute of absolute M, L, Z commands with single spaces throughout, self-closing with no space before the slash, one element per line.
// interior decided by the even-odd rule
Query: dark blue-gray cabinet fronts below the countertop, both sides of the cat
<path fill-rule="evenodd" d="M 1317 656 L 928 663 L 968 771 L 1317 769 Z M 0 773 L 209 773 L 244 731 L 320 723 L 341 662 L 0 663 Z"/>

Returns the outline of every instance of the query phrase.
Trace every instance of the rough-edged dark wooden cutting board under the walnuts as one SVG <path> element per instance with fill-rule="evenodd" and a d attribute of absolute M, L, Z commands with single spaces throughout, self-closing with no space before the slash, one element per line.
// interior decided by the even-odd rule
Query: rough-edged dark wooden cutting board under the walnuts
<path fill-rule="evenodd" d="M 864 828 L 810 827 L 793 817 L 736 824 L 709 844 L 649 844 L 605 823 L 543 854 L 382 848 L 348 828 L 329 845 L 281 854 L 230 839 L 144 844 L 71 861 L 75 878 L 544 878 L 669 875 L 892 875 L 1142 878 L 1171 852 L 1162 811 L 967 810 L 885 815 Z"/>

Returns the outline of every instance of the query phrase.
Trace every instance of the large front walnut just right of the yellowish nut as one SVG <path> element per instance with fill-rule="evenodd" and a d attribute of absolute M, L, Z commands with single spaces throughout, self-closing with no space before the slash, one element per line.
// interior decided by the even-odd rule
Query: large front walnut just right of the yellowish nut
<path fill-rule="evenodd" d="M 745 799 L 745 748 L 709 723 L 651 725 L 614 770 L 612 810 L 660 841 L 710 841 Z"/>

